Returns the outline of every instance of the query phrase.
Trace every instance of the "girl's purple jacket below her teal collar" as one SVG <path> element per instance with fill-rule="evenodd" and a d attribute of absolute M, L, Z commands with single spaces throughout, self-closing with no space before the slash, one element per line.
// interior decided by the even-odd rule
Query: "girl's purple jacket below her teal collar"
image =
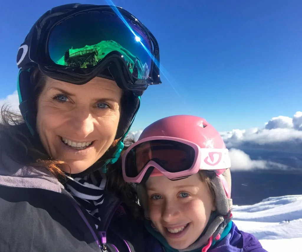
<path fill-rule="evenodd" d="M 252 234 L 239 231 L 232 223 L 230 233 L 207 252 L 267 252 Z"/>

